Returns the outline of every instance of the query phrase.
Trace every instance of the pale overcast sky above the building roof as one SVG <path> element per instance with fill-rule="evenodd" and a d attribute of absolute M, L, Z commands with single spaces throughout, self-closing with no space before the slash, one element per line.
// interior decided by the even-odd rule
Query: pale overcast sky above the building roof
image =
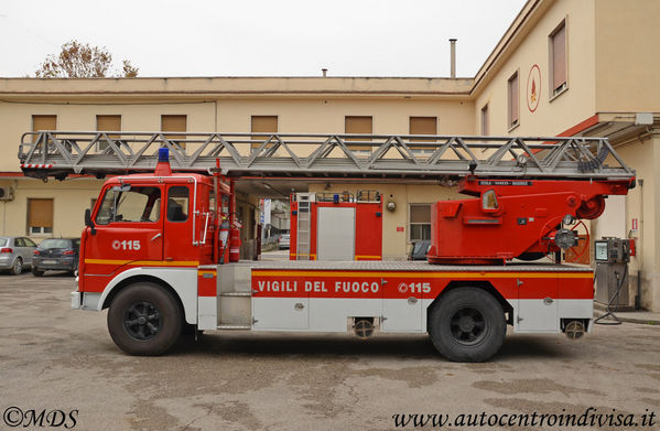
<path fill-rule="evenodd" d="M 2 0 L 0 77 L 77 40 L 139 76 L 473 77 L 526 0 Z"/>

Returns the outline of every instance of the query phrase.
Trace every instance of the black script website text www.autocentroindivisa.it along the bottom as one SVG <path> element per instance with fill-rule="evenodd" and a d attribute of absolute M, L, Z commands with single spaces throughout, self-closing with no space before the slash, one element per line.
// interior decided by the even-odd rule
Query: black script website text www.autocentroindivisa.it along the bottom
<path fill-rule="evenodd" d="M 396 413 L 392 414 L 394 428 L 474 428 L 506 427 L 506 428 L 539 428 L 574 429 L 592 427 L 617 427 L 618 430 L 654 427 L 658 421 L 656 412 L 646 409 L 643 413 L 634 414 L 619 412 L 617 409 L 599 411 L 588 407 L 582 413 L 567 413 L 562 409 L 560 413 L 488 413 L 486 411 L 474 413 L 444 414 L 444 413 Z"/>

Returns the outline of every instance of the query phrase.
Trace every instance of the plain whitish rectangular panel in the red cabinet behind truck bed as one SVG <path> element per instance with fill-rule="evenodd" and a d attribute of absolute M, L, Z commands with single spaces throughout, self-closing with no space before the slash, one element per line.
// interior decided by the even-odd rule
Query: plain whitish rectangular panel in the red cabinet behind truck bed
<path fill-rule="evenodd" d="M 320 207 L 317 213 L 317 259 L 355 259 L 355 208 Z"/>

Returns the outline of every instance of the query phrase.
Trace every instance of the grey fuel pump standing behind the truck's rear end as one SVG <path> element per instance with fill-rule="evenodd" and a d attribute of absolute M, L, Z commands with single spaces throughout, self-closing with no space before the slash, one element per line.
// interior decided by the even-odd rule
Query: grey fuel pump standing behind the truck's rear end
<path fill-rule="evenodd" d="M 628 306 L 628 262 L 630 261 L 630 241 L 628 239 L 605 237 L 594 241 L 596 261 L 596 302 L 619 306 Z"/>

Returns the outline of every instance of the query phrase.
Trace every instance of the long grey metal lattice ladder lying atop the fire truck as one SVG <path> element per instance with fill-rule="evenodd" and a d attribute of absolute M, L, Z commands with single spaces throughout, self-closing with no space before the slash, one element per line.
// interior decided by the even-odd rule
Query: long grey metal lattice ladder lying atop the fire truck
<path fill-rule="evenodd" d="M 174 171 L 230 176 L 612 179 L 635 176 L 605 138 L 41 131 L 21 138 L 26 176 Z"/>

